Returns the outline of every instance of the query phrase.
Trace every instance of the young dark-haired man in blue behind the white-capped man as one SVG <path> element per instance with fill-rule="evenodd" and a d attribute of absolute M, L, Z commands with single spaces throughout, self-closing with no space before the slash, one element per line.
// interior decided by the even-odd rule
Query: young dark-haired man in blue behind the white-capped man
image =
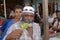
<path fill-rule="evenodd" d="M 15 29 L 15 28 L 12 28 L 11 30 L 9 30 L 9 28 L 12 27 L 12 26 L 14 26 L 18 21 L 20 21 L 21 15 L 22 15 L 22 7 L 20 5 L 16 5 L 14 7 L 14 9 L 13 9 L 13 14 L 14 14 L 13 18 L 7 20 L 6 23 L 5 23 L 5 25 L 2 28 L 3 34 L 2 34 L 1 38 L 3 40 L 5 40 L 6 35 L 9 34 L 11 30 Z"/>

